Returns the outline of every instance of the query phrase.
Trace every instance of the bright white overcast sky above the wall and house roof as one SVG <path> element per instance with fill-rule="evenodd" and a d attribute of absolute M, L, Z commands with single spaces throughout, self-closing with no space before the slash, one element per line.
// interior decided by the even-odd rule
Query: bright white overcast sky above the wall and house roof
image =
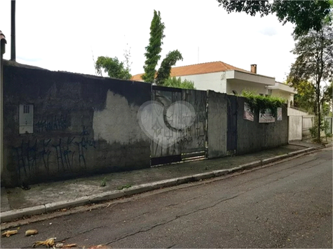
<path fill-rule="evenodd" d="M 0 0 L 0 10 L 10 59 L 11 0 Z M 97 57 L 123 61 L 128 50 L 130 73 L 143 73 L 154 10 L 165 24 L 161 60 L 177 49 L 184 59 L 176 66 L 221 61 L 250 71 L 257 64 L 257 73 L 283 82 L 296 58 L 292 24 L 228 14 L 216 0 L 16 0 L 16 61 L 95 75 Z"/>

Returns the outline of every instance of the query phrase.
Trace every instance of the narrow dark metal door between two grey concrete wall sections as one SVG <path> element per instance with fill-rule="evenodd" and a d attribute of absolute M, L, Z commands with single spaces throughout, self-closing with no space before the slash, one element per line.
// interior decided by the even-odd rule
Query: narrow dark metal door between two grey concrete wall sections
<path fill-rule="evenodd" d="M 226 131 L 226 150 L 230 154 L 235 154 L 237 150 L 237 97 L 227 95 L 228 99 L 228 120 Z"/>

